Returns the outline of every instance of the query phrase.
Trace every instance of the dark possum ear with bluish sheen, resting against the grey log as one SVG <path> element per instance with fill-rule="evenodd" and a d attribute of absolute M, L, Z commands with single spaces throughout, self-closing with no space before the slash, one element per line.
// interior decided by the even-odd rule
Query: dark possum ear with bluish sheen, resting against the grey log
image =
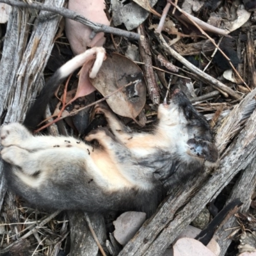
<path fill-rule="evenodd" d="M 190 156 L 204 158 L 211 163 L 215 163 L 218 160 L 219 153 L 214 143 L 193 138 L 188 140 L 187 144 L 189 146 L 188 154 Z"/>

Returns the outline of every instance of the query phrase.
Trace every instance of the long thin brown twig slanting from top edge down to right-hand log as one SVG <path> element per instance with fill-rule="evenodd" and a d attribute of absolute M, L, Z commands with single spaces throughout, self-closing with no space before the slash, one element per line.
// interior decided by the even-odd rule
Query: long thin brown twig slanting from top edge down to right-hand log
<path fill-rule="evenodd" d="M 230 66 L 232 67 L 232 69 L 234 70 L 234 72 L 237 74 L 237 76 L 239 77 L 239 79 L 243 82 L 243 84 L 246 86 L 246 88 L 248 88 L 248 90 L 250 90 L 250 92 L 252 92 L 252 90 L 250 89 L 250 87 L 244 82 L 243 78 L 240 76 L 240 74 L 237 72 L 236 68 L 234 67 L 234 65 L 231 63 L 230 59 L 228 58 L 228 56 L 220 49 L 220 47 L 218 47 L 218 45 L 216 45 L 215 41 L 211 38 L 211 36 L 209 36 L 207 33 L 205 33 L 205 31 L 198 26 L 198 24 L 191 19 L 191 15 L 188 15 L 188 13 L 184 12 L 182 9 L 179 8 L 179 6 L 177 6 L 175 3 L 172 3 L 171 0 L 167 0 L 170 4 L 172 4 L 175 8 L 177 8 L 177 10 L 179 10 L 179 12 L 181 12 L 185 17 L 187 17 L 194 26 L 196 26 L 196 28 L 198 28 L 200 30 L 200 32 L 205 35 L 211 42 L 212 44 L 218 48 L 218 50 L 221 52 L 221 54 L 228 60 Z"/>

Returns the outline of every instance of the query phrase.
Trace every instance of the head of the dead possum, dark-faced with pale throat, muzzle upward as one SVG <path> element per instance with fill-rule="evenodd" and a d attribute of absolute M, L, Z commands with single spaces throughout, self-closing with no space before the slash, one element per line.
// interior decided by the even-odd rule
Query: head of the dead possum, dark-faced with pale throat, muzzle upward
<path fill-rule="evenodd" d="M 179 141 L 177 148 L 184 148 L 180 151 L 185 151 L 197 161 L 216 163 L 218 149 L 214 145 L 211 126 L 179 89 L 172 93 L 169 104 L 159 106 L 158 118 L 160 127 L 165 127 L 164 130 L 172 137 L 175 134 L 173 140 Z M 180 145 L 182 138 L 184 145 Z"/>

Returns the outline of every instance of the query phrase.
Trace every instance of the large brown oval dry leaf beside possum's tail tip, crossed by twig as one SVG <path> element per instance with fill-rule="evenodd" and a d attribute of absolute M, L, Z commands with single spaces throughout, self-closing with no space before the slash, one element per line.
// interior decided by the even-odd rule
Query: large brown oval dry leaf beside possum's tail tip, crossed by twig
<path fill-rule="evenodd" d="M 140 82 L 127 86 L 106 100 L 117 115 L 134 119 L 145 105 L 147 91 L 143 74 L 138 65 L 120 54 L 108 55 L 97 77 L 91 79 L 91 82 L 106 97 L 125 84 L 136 80 Z"/>

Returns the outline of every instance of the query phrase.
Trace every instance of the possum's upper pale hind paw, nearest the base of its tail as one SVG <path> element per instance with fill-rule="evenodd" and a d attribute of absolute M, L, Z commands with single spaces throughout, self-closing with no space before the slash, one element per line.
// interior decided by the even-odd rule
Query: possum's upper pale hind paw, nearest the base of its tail
<path fill-rule="evenodd" d="M 11 145 L 22 146 L 32 134 L 21 124 L 12 123 L 4 125 L 0 132 L 1 145 L 9 147 Z"/>

